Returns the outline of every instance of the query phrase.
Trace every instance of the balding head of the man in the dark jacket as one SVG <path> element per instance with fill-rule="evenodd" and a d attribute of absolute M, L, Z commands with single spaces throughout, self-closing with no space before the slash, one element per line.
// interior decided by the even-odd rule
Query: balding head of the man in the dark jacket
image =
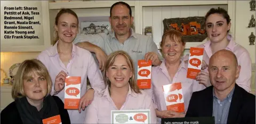
<path fill-rule="evenodd" d="M 239 76 L 240 68 L 241 66 L 237 66 L 233 55 L 228 52 L 218 52 L 212 56 L 209 63 L 208 69 L 211 84 L 218 91 L 233 89 Z"/>

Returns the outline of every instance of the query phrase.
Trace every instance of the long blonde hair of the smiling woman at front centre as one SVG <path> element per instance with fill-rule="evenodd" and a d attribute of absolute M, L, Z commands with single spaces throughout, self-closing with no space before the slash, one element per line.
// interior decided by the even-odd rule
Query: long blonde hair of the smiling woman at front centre
<path fill-rule="evenodd" d="M 103 71 L 103 79 L 104 79 L 105 84 L 108 85 L 109 94 L 110 94 L 110 89 L 111 89 L 111 87 L 110 87 L 111 82 L 107 78 L 106 73 L 107 73 L 109 67 L 114 64 L 116 57 L 118 55 L 122 55 L 126 59 L 126 63 L 128 64 L 128 66 L 130 67 L 130 69 L 132 71 L 132 77 L 129 80 L 129 85 L 131 87 L 132 92 L 141 93 L 140 88 L 138 87 L 137 82 L 135 81 L 134 65 L 133 65 L 133 61 L 132 61 L 131 57 L 127 54 L 127 52 L 125 52 L 123 50 L 118 50 L 118 51 L 112 52 L 108 56 L 107 62 L 106 62 L 106 67 Z"/>

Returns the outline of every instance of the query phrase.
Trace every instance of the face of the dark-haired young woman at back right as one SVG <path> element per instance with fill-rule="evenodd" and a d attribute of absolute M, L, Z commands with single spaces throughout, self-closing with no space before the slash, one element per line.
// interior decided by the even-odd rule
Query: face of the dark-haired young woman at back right
<path fill-rule="evenodd" d="M 221 42 L 227 38 L 227 33 L 230 30 L 230 23 L 227 23 L 227 19 L 222 14 L 211 14 L 206 19 L 206 32 L 211 42 Z"/>

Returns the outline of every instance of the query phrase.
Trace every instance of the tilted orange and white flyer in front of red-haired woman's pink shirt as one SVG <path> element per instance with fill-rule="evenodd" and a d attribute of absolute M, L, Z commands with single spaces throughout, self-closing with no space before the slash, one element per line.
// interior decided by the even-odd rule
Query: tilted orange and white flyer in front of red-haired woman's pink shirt
<path fill-rule="evenodd" d="M 180 82 L 163 85 L 163 92 L 167 110 L 185 112 L 185 104 Z"/>

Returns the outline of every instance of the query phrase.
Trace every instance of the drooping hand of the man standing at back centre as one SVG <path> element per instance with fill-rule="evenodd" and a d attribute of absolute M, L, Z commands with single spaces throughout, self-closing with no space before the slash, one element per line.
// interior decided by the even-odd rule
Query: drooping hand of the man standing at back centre
<path fill-rule="evenodd" d="M 103 71 L 106 66 L 105 64 L 107 61 L 107 55 L 101 48 L 97 48 L 97 50 L 95 51 L 95 55 L 97 60 L 99 61 L 99 68 L 101 71 Z"/>

